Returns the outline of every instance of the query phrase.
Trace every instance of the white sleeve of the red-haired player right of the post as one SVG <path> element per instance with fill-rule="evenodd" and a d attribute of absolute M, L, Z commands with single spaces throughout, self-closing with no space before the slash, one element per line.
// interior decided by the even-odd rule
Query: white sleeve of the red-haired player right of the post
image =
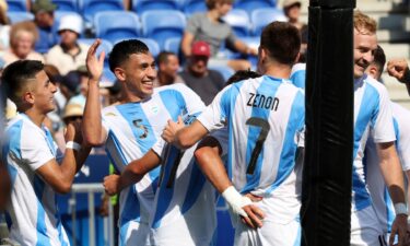
<path fill-rule="evenodd" d="M 393 142 L 396 140 L 396 136 L 390 98 L 384 86 L 379 86 L 378 92 L 378 112 L 375 109 L 375 114 L 372 116 L 372 137 L 375 143 Z"/>

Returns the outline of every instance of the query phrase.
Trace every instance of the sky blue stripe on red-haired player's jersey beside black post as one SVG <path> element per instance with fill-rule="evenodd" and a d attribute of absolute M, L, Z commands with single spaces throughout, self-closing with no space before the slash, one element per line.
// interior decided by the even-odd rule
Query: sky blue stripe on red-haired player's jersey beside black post
<path fill-rule="evenodd" d="M 374 118 L 377 117 L 378 108 L 378 93 L 376 89 L 370 86 L 366 83 L 364 89 L 362 103 L 358 114 L 358 118 L 354 126 L 354 149 L 353 149 L 353 160 L 358 155 L 359 147 L 363 137 L 364 131 L 366 130 L 370 122 L 374 122 Z M 364 166 L 364 164 L 363 164 Z M 362 210 L 371 206 L 372 200 L 370 194 L 366 190 L 366 185 L 359 177 L 359 174 L 353 165 L 353 190 L 354 190 L 354 204 L 356 210 Z"/>

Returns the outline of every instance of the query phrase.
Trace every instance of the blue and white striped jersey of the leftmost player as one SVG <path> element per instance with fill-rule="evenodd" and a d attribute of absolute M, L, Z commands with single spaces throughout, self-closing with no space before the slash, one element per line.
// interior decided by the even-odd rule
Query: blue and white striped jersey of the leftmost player
<path fill-rule="evenodd" d="M 51 133 L 26 115 L 14 117 L 5 129 L 3 162 L 12 181 L 7 210 L 10 238 L 22 246 L 70 245 L 57 209 L 52 188 L 36 169 L 52 159 L 60 161 Z"/>

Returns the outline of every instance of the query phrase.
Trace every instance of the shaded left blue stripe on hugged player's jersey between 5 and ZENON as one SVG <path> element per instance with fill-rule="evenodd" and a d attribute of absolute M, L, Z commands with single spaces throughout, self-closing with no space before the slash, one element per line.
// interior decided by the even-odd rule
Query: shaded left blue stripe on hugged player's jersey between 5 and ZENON
<path fill-rule="evenodd" d="M 174 145 L 169 145 L 168 153 L 166 155 L 166 163 L 163 164 L 163 177 L 161 180 L 161 188 L 159 194 L 159 199 L 156 201 L 156 211 L 154 214 L 154 220 L 152 222 L 152 227 L 157 229 L 161 226 L 162 218 L 166 213 L 166 210 L 168 209 L 171 201 L 173 199 L 174 188 L 175 185 L 173 184 L 171 187 L 167 187 L 167 183 L 172 175 L 172 169 L 174 167 L 175 160 L 178 157 L 178 153 L 180 152 L 179 149 L 177 149 Z M 175 180 L 174 180 L 175 183 Z"/>

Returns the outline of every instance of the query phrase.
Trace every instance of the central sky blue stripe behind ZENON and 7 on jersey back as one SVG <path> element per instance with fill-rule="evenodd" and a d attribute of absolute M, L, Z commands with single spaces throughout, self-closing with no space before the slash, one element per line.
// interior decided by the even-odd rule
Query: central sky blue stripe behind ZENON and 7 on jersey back
<path fill-rule="evenodd" d="M 263 95 L 265 98 L 267 99 L 268 97 L 274 98 L 279 86 L 281 85 L 282 80 L 281 79 L 276 79 L 272 77 L 262 77 L 262 82 L 260 83 L 259 87 L 257 89 L 256 93 L 259 95 Z M 261 97 L 261 96 L 260 96 Z M 259 97 L 259 99 L 260 99 Z M 258 103 L 257 101 L 255 101 Z M 272 101 L 273 103 L 274 101 Z M 251 118 L 260 118 L 266 121 L 269 121 L 269 116 L 271 113 L 271 107 L 270 108 L 265 108 L 265 107 L 253 107 L 251 108 Z M 244 119 L 247 120 L 247 119 Z M 259 138 L 261 128 L 256 127 L 256 126 L 249 126 L 248 130 L 248 139 L 247 139 L 247 144 L 246 144 L 246 167 L 249 165 L 250 156 L 251 153 L 256 147 L 256 142 Z M 257 159 L 257 164 L 255 167 L 254 174 L 246 174 L 246 185 L 244 188 L 241 190 L 241 192 L 248 192 L 255 187 L 258 187 L 259 181 L 260 181 L 260 172 L 262 168 L 262 163 L 263 163 L 263 152 L 265 148 L 260 151 L 260 154 Z"/>

